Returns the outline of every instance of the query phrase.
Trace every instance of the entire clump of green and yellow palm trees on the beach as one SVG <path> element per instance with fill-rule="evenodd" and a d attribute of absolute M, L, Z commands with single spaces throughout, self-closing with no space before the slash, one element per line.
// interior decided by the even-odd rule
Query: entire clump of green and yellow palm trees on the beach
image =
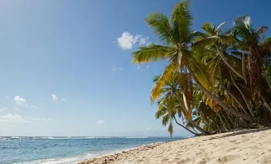
<path fill-rule="evenodd" d="M 271 122 L 271 39 L 267 27 L 252 27 L 249 16 L 234 19 L 223 31 L 205 23 L 192 30 L 189 4 L 177 4 L 169 19 L 153 13 L 146 23 L 161 45 L 139 47 L 134 63 L 168 62 L 154 78 L 151 102 L 156 118 L 177 123 L 194 135 L 226 132 Z M 200 134 L 199 134 L 200 133 Z"/>

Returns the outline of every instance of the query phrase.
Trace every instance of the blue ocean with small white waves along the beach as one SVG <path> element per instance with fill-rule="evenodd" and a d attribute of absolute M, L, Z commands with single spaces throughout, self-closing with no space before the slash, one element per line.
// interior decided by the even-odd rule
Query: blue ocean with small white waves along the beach
<path fill-rule="evenodd" d="M 185 137 L 0 137 L 0 163 L 77 163 L 118 150 L 183 138 Z"/>

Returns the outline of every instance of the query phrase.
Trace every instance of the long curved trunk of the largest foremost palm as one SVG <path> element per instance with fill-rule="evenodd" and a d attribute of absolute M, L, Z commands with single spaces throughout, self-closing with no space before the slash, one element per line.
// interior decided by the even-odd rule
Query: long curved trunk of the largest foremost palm
<path fill-rule="evenodd" d="M 249 121 L 258 121 L 260 122 L 261 120 L 259 120 L 257 117 L 252 117 L 250 115 L 247 114 L 243 114 L 240 112 L 235 111 L 234 109 L 230 108 L 227 104 L 225 104 L 222 100 L 220 100 L 216 95 L 214 95 L 213 93 L 211 93 L 209 90 L 207 90 L 204 86 L 202 86 L 200 84 L 200 82 L 198 81 L 198 79 L 196 78 L 196 76 L 194 75 L 194 73 L 192 72 L 190 66 L 186 66 L 189 73 L 191 74 L 192 78 L 194 79 L 195 83 L 198 85 L 199 89 L 204 92 L 205 94 L 207 94 L 209 97 L 211 97 L 213 100 L 215 100 L 220 106 L 222 106 L 225 110 L 229 111 L 230 113 L 232 113 L 233 115 L 236 115 L 240 118 L 243 118 L 245 120 L 249 120 Z"/>

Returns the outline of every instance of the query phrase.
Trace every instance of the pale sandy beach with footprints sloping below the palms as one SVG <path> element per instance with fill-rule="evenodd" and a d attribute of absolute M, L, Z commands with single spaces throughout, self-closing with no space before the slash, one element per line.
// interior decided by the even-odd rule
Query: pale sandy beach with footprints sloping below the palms
<path fill-rule="evenodd" d="M 84 163 L 84 162 L 82 162 Z M 123 151 L 85 163 L 271 163 L 271 130 L 200 136 Z"/>

